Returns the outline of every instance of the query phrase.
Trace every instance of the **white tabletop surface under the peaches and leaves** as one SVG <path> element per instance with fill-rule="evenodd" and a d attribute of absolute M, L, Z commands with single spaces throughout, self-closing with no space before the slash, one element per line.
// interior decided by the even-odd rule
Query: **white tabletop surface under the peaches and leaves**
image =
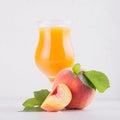
<path fill-rule="evenodd" d="M 22 99 L 0 99 L 0 120 L 120 120 L 120 101 L 93 101 L 84 110 L 18 112 Z"/>

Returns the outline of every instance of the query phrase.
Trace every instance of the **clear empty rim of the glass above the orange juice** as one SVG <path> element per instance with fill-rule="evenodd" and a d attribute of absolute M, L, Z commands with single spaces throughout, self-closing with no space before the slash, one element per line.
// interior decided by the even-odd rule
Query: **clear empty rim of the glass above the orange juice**
<path fill-rule="evenodd" d="M 41 20 L 37 21 L 39 28 L 43 27 L 71 27 L 71 20 Z"/>

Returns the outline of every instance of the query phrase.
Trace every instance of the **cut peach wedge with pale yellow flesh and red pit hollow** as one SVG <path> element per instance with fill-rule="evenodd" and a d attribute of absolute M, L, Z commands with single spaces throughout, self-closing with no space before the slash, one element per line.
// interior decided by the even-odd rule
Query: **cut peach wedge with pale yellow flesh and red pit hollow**
<path fill-rule="evenodd" d="M 42 103 L 41 108 L 46 111 L 59 111 L 64 109 L 72 100 L 70 89 L 65 84 L 58 84 Z"/>

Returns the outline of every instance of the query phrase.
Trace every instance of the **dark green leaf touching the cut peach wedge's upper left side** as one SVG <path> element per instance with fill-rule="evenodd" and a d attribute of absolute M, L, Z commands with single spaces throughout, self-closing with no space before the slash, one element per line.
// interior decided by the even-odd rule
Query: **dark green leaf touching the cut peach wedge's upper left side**
<path fill-rule="evenodd" d="M 48 96 L 50 92 L 47 89 L 42 89 L 40 91 L 35 91 L 34 92 L 34 97 L 39 100 L 39 105 L 41 106 L 41 104 L 43 103 L 43 101 L 45 100 L 45 98 Z"/>

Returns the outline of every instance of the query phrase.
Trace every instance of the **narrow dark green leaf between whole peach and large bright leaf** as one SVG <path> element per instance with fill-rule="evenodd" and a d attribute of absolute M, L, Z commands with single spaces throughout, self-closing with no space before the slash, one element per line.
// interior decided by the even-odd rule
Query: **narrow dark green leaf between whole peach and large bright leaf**
<path fill-rule="evenodd" d="M 90 80 L 87 77 L 85 77 L 85 75 L 79 74 L 78 77 L 86 86 L 96 90 L 95 86 L 90 82 Z"/>

